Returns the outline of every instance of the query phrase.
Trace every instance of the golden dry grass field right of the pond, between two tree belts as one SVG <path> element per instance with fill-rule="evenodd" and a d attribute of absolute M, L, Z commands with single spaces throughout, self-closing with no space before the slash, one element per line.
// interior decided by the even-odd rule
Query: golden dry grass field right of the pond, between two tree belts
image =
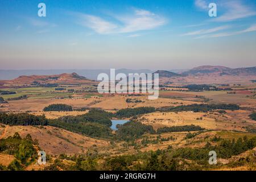
<path fill-rule="evenodd" d="M 228 111 L 226 114 L 193 113 L 184 111 L 179 113 L 155 112 L 142 115 L 138 120 L 146 125 L 152 125 L 154 129 L 159 127 L 198 125 L 208 130 L 238 130 L 245 131 L 243 126 L 255 125 L 247 115 L 248 111 Z M 243 120 L 241 120 L 243 119 Z"/>

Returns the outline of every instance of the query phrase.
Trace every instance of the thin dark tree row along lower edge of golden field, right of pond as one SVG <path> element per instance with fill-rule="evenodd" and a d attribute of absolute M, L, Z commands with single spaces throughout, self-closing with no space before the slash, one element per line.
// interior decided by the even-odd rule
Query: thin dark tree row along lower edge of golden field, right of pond
<path fill-rule="evenodd" d="M 180 132 L 180 131 L 200 131 L 204 130 L 201 126 L 195 125 L 185 125 L 185 126 L 172 126 L 172 127 L 160 127 L 156 133 L 170 133 L 170 132 Z"/>

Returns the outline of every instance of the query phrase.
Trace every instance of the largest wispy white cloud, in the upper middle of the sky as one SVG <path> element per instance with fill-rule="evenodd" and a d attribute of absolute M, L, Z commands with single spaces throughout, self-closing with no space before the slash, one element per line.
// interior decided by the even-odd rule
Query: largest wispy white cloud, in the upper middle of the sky
<path fill-rule="evenodd" d="M 142 30 L 152 30 L 166 23 L 162 16 L 147 10 L 134 10 L 130 15 L 113 15 L 112 21 L 100 16 L 76 13 L 79 24 L 91 28 L 98 34 L 131 33 Z M 117 23 L 119 22 L 119 23 Z"/>

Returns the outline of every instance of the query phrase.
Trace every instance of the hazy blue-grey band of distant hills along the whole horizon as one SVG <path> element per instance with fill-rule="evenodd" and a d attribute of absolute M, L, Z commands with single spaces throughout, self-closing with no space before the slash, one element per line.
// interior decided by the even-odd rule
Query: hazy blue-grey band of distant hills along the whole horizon
<path fill-rule="evenodd" d="M 87 80 L 97 80 L 97 76 L 100 73 L 106 73 L 110 75 L 110 69 L 57 69 L 57 70 L 0 70 L 0 80 L 36 80 L 42 77 L 55 77 L 56 74 L 61 75 L 67 74 L 72 77 L 87 79 Z M 204 65 L 196 67 L 190 70 L 158 70 L 152 71 L 150 69 L 116 69 L 115 74 L 125 73 L 158 73 L 159 77 L 184 77 L 184 76 L 255 76 L 256 67 L 250 68 L 228 68 L 222 66 L 211 66 Z M 32 76 L 31 76 L 32 75 Z M 17 78 L 18 77 L 18 78 Z M 35 79 L 35 77 L 37 77 Z M 61 79 L 60 79 L 61 80 Z M 69 79 L 68 79 L 69 80 Z"/>

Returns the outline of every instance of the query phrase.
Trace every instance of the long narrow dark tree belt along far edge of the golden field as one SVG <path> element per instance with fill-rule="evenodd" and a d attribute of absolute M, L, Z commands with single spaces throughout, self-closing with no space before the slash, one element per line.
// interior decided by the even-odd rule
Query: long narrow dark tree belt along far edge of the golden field
<path fill-rule="evenodd" d="M 207 112 L 212 110 L 239 110 L 240 106 L 236 104 L 192 104 L 192 105 L 182 105 L 176 107 L 162 107 L 160 111 L 194 111 L 194 112 Z"/>

